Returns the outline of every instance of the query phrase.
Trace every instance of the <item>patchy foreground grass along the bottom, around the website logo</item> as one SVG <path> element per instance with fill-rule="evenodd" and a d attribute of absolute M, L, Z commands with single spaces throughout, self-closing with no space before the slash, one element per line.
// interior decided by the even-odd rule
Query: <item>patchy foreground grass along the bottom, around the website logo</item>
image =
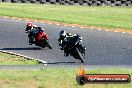
<path fill-rule="evenodd" d="M 130 74 L 132 69 L 94 69 L 87 74 Z M 0 87 L 4 88 L 132 88 L 129 84 L 86 84 L 76 82 L 77 69 L 46 67 L 37 70 L 1 70 Z M 6 86 L 6 87 L 5 87 Z"/>

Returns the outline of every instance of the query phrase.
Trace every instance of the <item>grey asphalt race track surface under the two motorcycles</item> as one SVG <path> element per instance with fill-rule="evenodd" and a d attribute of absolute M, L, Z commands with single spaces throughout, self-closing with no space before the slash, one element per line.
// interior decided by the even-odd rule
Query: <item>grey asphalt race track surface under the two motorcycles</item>
<path fill-rule="evenodd" d="M 53 49 L 41 49 L 35 45 L 28 45 L 28 37 L 24 31 L 26 24 L 27 21 L 0 18 L 0 50 L 41 59 L 48 64 L 79 65 L 79 60 L 72 56 L 64 57 L 63 51 L 59 49 L 59 32 L 66 30 L 83 37 L 83 44 L 87 48 L 84 65 L 132 65 L 130 34 L 34 22 L 45 28 L 53 46 Z"/>

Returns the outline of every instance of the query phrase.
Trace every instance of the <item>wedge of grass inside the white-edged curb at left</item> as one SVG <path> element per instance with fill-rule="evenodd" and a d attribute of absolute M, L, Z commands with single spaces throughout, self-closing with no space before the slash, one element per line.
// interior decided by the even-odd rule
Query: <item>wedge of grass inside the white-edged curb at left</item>
<path fill-rule="evenodd" d="M 0 65 L 37 65 L 35 60 L 27 60 L 15 55 L 9 55 L 0 52 Z"/>

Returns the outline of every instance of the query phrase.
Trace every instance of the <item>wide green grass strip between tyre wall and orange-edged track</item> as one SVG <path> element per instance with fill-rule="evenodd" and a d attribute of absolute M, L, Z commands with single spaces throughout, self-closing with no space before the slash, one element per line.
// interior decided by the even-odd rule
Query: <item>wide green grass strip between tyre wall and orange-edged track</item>
<path fill-rule="evenodd" d="M 0 3 L 0 16 L 132 29 L 132 8 Z"/>

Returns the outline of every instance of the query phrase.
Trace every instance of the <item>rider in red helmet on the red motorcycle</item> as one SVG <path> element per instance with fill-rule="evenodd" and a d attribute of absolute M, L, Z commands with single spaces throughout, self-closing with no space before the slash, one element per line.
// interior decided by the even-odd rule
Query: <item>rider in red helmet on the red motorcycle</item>
<path fill-rule="evenodd" d="M 34 39 L 35 39 L 35 36 L 39 33 L 39 32 L 42 32 L 44 31 L 43 28 L 41 27 L 38 27 L 37 25 L 33 25 L 31 22 L 29 22 L 27 24 L 27 27 L 26 27 L 26 33 L 28 33 L 28 37 L 29 37 L 29 45 L 32 45 L 34 43 Z M 46 35 L 47 36 L 47 35 Z"/>

